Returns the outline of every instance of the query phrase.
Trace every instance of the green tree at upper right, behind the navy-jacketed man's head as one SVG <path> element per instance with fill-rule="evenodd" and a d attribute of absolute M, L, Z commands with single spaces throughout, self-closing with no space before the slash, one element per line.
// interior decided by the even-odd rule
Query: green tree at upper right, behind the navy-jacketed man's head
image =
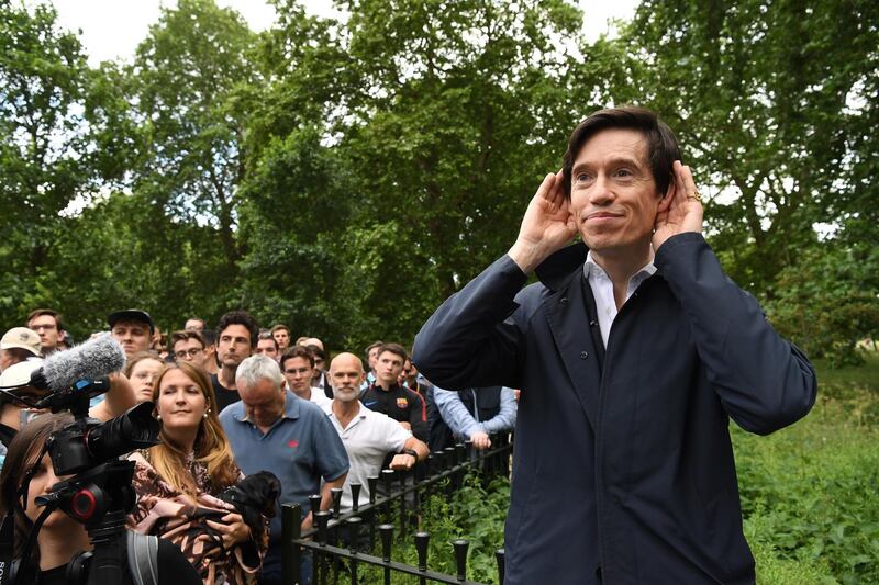
<path fill-rule="evenodd" d="M 863 111 L 876 114 L 852 97 L 876 92 L 876 23 L 867 1 L 645 0 L 628 27 L 648 64 L 635 87 L 711 196 L 725 267 L 758 294 L 777 294 L 779 272 L 817 244 L 814 224 L 839 227 L 839 202 L 864 202 L 852 147 L 875 135 Z"/>

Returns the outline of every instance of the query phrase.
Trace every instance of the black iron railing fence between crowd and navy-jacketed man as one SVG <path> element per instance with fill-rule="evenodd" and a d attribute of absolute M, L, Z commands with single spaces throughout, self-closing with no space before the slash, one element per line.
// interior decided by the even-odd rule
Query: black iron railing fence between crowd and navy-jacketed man
<path fill-rule="evenodd" d="M 486 481 L 509 473 L 512 450 L 509 436 L 492 436 L 491 445 L 491 449 L 485 451 L 474 450 L 471 445 L 464 443 L 435 451 L 410 472 L 382 470 L 381 477 L 367 480 L 369 503 L 363 506 L 358 506 L 363 486 L 352 484 L 353 507 L 344 514 L 340 509 L 341 488 L 332 491 L 331 510 L 320 510 L 321 497 L 313 495 L 310 505 L 314 528 L 308 531 L 300 529 L 301 507 L 298 504 L 283 505 L 281 547 L 285 585 L 302 583 L 302 577 L 307 577 L 300 575 L 301 559 L 305 551 L 312 555 L 310 576 L 313 585 L 390 584 L 392 577 L 397 583 L 483 585 L 467 580 L 467 540 L 457 539 L 449 543 L 449 554 L 454 554 L 457 567 L 455 575 L 429 569 L 431 536 L 427 532 L 418 530 L 412 535 L 416 565 L 393 561 L 391 553 L 394 540 L 398 543 L 401 540 L 409 541 L 411 525 L 418 525 L 419 515 L 432 494 L 460 485 L 470 471 L 478 471 Z M 392 520 L 396 522 L 391 524 Z M 398 539 L 394 539 L 396 525 L 399 525 L 401 537 Z M 503 549 L 496 551 L 496 560 L 497 583 L 503 583 Z"/>

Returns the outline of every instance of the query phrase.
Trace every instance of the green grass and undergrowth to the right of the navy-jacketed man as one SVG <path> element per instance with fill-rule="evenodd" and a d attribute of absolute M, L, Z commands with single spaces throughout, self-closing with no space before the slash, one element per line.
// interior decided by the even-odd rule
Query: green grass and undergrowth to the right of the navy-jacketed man
<path fill-rule="evenodd" d="M 758 583 L 879 583 L 879 359 L 831 370 L 803 420 L 733 430 Z"/>

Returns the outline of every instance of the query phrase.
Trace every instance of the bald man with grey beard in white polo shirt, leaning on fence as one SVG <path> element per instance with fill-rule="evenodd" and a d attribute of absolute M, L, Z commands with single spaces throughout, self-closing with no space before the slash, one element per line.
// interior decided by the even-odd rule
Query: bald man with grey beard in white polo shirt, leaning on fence
<path fill-rule="evenodd" d="M 410 470 L 427 457 L 427 446 L 412 436 L 394 419 L 366 408 L 357 400 L 360 383 L 366 379 L 364 365 L 354 353 L 340 353 L 330 363 L 333 403 L 330 421 L 342 437 L 351 469 L 342 493 L 342 509 L 352 506 L 351 483 L 359 483 L 359 504 L 369 503 L 367 477 L 377 477 L 388 453 L 398 453 L 390 462 L 393 470 Z"/>

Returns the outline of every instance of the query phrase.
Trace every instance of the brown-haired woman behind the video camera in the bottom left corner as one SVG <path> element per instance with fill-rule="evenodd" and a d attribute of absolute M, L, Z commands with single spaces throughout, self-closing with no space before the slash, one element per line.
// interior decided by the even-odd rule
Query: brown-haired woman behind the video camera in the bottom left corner
<path fill-rule="evenodd" d="M 86 583 L 86 575 L 68 575 L 80 551 L 90 549 L 89 538 L 84 525 L 56 509 L 43 524 L 36 536 L 36 545 L 27 558 L 25 542 L 34 527 L 34 521 L 43 511 L 35 503 L 52 487 L 65 477 L 57 477 L 44 447 L 53 432 L 69 425 L 73 418 L 67 414 L 40 415 L 24 427 L 12 440 L 7 453 L 3 471 L 0 473 L 0 511 L 12 513 L 14 518 L 14 553 L 19 561 L 15 576 L 18 585 L 80 585 Z M 122 559 L 127 559 L 125 539 L 122 540 Z M 121 561 L 123 581 L 121 585 L 134 584 L 132 569 L 127 562 Z M 156 554 L 157 580 L 159 585 L 198 585 L 200 580 L 194 569 L 187 562 L 180 550 L 169 542 L 158 540 Z M 107 584 L 112 585 L 112 584 Z"/>

